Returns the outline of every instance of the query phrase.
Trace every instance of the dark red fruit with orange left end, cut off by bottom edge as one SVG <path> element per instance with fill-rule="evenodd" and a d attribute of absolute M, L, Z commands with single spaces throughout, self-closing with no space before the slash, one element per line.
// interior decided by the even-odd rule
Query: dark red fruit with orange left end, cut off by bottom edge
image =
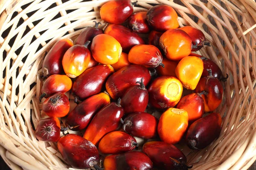
<path fill-rule="evenodd" d="M 132 151 L 105 157 L 104 170 L 152 170 L 153 163 L 144 153 Z"/>

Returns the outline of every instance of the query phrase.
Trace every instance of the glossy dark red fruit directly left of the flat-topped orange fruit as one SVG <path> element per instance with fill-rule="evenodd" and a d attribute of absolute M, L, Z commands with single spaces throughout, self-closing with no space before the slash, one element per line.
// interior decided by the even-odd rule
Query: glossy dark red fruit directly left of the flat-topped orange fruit
<path fill-rule="evenodd" d="M 132 136 L 144 139 L 157 137 L 158 120 L 145 112 L 134 112 L 124 119 L 123 130 Z"/>

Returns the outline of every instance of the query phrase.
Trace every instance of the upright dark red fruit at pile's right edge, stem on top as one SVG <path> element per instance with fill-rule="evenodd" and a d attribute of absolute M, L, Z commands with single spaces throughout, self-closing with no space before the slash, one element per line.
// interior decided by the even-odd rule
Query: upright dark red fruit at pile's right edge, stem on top
<path fill-rule="evenodd" d="M 195 88 L 196 93 L 201 93 L 202 91 L 207 92 L 207 95 L 202 94 L 204 111 L 214 111 L 218 108 L 222 101 L 223 88 L 221 82 L 212 76 L 211 69 L 209 70 L 209 76 L 202 77 Z"/>

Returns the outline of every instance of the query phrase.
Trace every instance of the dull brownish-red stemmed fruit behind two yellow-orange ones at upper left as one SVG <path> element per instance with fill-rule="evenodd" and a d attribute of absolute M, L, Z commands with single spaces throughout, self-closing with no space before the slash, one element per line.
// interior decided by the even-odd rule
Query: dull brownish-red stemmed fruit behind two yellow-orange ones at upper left
<path fill-rule="evenodd" d="M 93 21 L 95 23 L 94 27 L 87 27 L 84 31 L 82 31 L 79 36 L 76 38 L 75 44 L 77 45 L 84 45 L 87 41 L 92 42 L 93 38 L 96 35 L 103 34 L 102 29 L 98 28 L 99 24 L 96 21 Z M 87 46 L 87 48 L 90 50 L 91 43 Z"/>

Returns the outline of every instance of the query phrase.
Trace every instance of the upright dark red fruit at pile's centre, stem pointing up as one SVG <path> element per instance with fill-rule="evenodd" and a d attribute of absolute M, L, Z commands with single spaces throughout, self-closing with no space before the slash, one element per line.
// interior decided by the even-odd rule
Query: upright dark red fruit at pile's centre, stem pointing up
<path fill-rule="evenodd" d="M 127 89 L 121 99 L 121 106 L 125 114 L 133 112 L 143 112 L 148 105 L 148 91 L 143 84 L 143 78 L 139 83 Z"/>

